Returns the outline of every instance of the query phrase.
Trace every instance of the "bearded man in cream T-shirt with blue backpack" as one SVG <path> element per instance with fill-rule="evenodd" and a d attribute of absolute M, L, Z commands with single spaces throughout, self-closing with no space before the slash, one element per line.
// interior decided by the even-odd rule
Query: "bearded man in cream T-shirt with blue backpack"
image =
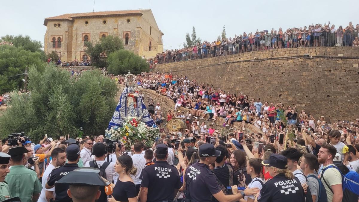
<path fill-rule="evenodd" d="M 318 163 L 323 164 L 323 169 L 318 172 L 319 179 L 324 184 L 327 192 L 328 201 L 341 202 L 343 198 L 342 176 L 333 164 L 333 159 L 337 153 L 334 146 L 330 144 L 322 144 L 318 152 Z M 328 166 L 335 166 L 326 168 Z"/>

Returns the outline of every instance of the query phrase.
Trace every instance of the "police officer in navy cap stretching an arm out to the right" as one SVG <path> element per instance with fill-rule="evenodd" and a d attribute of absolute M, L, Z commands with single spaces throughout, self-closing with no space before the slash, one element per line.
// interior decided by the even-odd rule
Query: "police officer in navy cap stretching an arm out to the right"
<path fill-rule="evenodd" d="M 238 201 L 246 195 L 259 192 L 258 188 L 246 189 L 239 192 L 237 185 L 232 186 L 233 195 L 224 195 L 219 187 L 214 173 L 209 169 L 209 164 L 213 164 L 221 152 L 214 148 L 213 144 L 202 144 L 198 149 L 200 162 L 188 166 L 186 173 L 183 174 L 183 189 L 186 199 L 191 202 L 210 202 L 213 197 L 218 201 Z"/>

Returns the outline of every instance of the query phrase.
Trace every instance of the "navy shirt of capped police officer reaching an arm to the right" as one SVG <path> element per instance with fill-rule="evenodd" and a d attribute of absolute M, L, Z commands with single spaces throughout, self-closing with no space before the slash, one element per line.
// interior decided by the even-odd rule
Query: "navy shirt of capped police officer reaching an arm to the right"
<path fill-rule="evenodd" d="M 185 182 L 186 190 L 194 202 L 210 202 L 213 194 L 222 191 L 209 166 L 200 162 L 187 167 Z"/>

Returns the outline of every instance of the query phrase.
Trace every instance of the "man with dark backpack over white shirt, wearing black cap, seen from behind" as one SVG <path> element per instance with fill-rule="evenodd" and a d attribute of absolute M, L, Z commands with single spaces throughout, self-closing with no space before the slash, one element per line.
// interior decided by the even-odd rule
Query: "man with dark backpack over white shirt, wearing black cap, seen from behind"
<path fill-rule="evenodd" d="M 107 155 L 107 147 L 103 143 L 97 143 L 92 146 L 92 155 L 95 156 L 94 161 L 88 161 L 85 164 L 85 167 L 95 167 L 100 170 L 99 175 L 104 179 L 107 179 L 109 182 L 112 182 L 113 176 L 116 174 L 115 163 L 105 161 Z M 107 195 L 104 192 L 104 187 L 100 187 L 101 196 L 98 199 L 98 202 L 106 202 Z"/>

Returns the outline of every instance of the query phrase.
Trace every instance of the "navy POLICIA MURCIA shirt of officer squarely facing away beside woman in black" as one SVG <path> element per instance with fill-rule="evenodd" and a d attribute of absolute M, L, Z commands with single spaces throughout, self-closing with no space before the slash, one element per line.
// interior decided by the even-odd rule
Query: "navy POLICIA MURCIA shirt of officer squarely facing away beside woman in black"
<path fill-rule="evenodd" d="M 141 187 L 148 188 L 147 202 L 173 201 L 174 190 L 182 183 L 177 168 L 159 160 L 142 170 Z"/>

